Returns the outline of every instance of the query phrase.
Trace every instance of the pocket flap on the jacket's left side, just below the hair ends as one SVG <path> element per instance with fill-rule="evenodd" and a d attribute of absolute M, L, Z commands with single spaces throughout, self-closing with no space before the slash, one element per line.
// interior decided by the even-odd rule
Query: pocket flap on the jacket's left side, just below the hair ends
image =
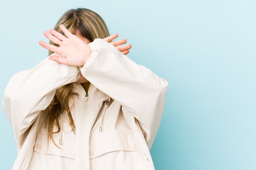
<path fill-rule="evenodd" d="M 75 159 L 76 141 L 73 139 L 68 139 L 64 137 L 62 137 L 62 139 L 63 139 L 62 145 L 58 144 L 58 139 L 56 139 L 54 140 L 54 142 L 58 147 L 51 140 L 49 140 L 49 146 L 48 146 L 47 135 L 38 133 L 36 137 L 36 144 L 34 146 L 34 151 L 40 154 L 58 155 L 62 157 Z"/>

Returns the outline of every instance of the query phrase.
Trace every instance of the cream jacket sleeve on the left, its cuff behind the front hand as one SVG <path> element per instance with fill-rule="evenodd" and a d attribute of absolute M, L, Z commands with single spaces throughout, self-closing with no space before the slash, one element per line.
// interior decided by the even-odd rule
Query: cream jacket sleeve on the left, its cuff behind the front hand
<path fill-rule="evenodd" d="M 3 94 L 2 108 L 11 123 L 18 148 L 26 130 L 52 101 L 56 88 L 75 82 L 78 77 L 77 67 L 58 64 L 48 58 L 31 70 L 11 77 Z"/>

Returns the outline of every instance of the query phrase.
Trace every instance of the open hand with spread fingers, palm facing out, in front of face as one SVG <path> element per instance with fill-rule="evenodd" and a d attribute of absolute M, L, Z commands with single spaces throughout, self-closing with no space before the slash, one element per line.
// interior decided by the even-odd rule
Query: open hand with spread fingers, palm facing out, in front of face
<path fill-rule="evenodd" d="M 67 37 L 54 29 L 50 29 L 49 33 L 47 31 L 44 32 L 45 37 L 55 44 L 58 44 L 59 47 L 47 44 L 43 41 L 40 41 L 39 44 L 44 48 L 61 55 L 61 57 L 52 55 L 49 59 L 68 66 L 83 66 L 91 55 L 90 47 L 76 35 L 70 33 L 70 31 L 68 31 L 62 24 L 60 25 L 60 29 Z"/>

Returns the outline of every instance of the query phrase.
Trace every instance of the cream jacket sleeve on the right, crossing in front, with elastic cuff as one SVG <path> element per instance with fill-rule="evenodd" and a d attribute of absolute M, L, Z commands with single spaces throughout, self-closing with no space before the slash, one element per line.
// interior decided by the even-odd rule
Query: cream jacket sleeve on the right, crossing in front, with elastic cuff
<path fill-rule="evenodd" d="M 168 83 L 101 39 L 89 46 L 92 55 L 81 73 L 139 121 L 150 148 L 162 118 Z"/>

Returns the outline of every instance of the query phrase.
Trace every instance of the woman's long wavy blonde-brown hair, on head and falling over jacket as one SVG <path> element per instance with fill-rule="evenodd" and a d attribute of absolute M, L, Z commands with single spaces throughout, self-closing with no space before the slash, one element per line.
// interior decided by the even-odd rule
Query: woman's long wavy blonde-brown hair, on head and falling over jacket
<path fill-rule="evenodd" d="M 103 39 L 110 35 L 101 16 L 90 9 L 71 9 L 61 16 L 54 29 L 65 35 L 59 28 L 60 24 L 63 24 L 72 34 L 76 35 L 79 33 L 84 38 L 90 40 L 90 42 L 94 41 L 96 38 Z M 50 44 L 58 46 L 52 41 L 50 41 Z M 49 51 L 49 55 L 52 53 L 52 51 Z M 73 131 L 75 130 L 74 121 L 68 105 L 71 94 L 74 94 L 72 85 L 73 83 L 58 88 L 52 102 L 45 110 L 45 127 L 48 130 L 48 142 L 49 139 L 54 142 L 53 135 L 61 131 L 59 118 L 62 114 L 67 113 L 70 127 Z M 74 103 L 72 106 L 74 106 Z M 57 130 L 54 131 L 54 127 L 56 127 Z"/>

